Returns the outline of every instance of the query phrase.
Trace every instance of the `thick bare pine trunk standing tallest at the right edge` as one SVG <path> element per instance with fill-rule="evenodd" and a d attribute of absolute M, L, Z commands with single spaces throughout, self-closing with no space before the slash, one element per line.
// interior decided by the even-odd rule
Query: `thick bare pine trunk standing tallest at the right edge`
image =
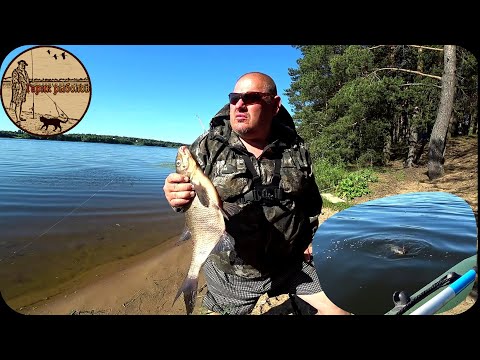
<path fill-rule="evenodd" d="M 433 125 L 428 149 L 428 178 L 430 180 L 442 177 L 444 174 L 443 163 L 446 147 L 447 131 L 452 117 L 453 101 L 455 98 L 455 71 L 456 71 L 456 46 L 445 45 L 443 57 L 442 91 L 437 119 Z"/>

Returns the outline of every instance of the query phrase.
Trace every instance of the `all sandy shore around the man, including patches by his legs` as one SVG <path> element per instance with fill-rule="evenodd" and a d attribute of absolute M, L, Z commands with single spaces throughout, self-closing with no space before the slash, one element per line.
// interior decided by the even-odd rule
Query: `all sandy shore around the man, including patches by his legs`
<path fill-rule="evenodd" d="M 334 212 L 325 209 L 321 221 Z M 177 243 L 174 236 L 161 245 L 131 257 L 128 262 L 98 268 L 82 287 L 62 292 L 17 312 L 25 315 L 185 315 L 183 296 L 173 304 L 191 260 L 191 242 Z M 112 270 L 115 269 L 115 270 Z M 200 273 L 193 315 L 202 315 L 206 287 Z M 298 302 L 301 300 L 298 299 Z M 312 313 L 305 303 L 297 304 L 302 314 Z M 252 314 L 287 315 L 293 312 L 288 295 L 263 296 Z"/>

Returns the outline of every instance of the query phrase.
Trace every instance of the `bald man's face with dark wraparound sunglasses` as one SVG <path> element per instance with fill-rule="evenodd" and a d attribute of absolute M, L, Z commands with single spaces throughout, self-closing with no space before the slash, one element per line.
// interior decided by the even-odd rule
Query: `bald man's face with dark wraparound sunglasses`
<path fill-rule="evenodd" d="M 234 93 L 264 92 L 263 84 L 255 78 L 240 79 Z M 233 131 L 244 139 L 265 140 L 270 133 L 273 116 L 280 106 L 280 97 L 258 97 L 258 101 L 248 102 L 239 99 L 235 104 L 230 102 L 230 124 Z"/>

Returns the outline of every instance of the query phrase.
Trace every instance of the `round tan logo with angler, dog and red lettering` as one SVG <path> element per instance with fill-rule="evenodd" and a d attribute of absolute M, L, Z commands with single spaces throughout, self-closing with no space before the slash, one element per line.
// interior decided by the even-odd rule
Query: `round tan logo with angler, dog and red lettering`
<path fill-rule="evenodd" d="M 92 86 L 75 55 L 36 46 L 18 55 L 2 78 L 2 105 L 21 130 L 51 137 L 74 128 L 90 104 Z"/>

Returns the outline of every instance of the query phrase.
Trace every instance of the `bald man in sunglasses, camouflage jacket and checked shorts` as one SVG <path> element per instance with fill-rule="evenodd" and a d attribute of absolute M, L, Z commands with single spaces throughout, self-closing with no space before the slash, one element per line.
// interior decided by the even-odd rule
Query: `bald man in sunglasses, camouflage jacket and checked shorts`
<path fill-rule="evenodd" d="M 348 314 L 322 291 L 311 259 L 322 199 L 309 153 L 281 105 L 273 79 L 251 72 L 237 81 L 208 133 L 190 151 L 224 202 L 241 209 L 226 221 L 235 250 L 204 264 L 203 305 L 248 314 L 264 293 L 296 293 L 317 314 Z M 195 196 L 188 178 L 170 174 L 163 187 L 176 211 Z"/>

